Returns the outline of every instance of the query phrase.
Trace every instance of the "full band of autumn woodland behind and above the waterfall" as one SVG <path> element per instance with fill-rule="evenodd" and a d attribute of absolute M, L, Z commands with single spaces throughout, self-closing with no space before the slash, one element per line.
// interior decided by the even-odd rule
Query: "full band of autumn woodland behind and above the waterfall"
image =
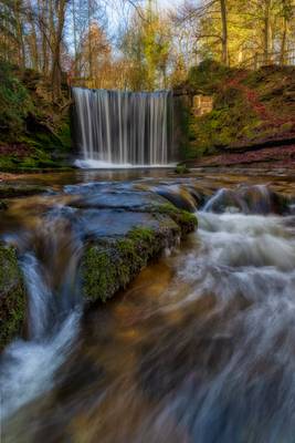
<path fill-rule="evenodd" d="M 88 87 L 152 90 L 204 59 L 295 62 L 295 0 L 183 0 L 170 11 L 157 0 L 113 0 L 130 13 L 112 34 L 108 1 L 0 0 L 0 60 L 42 73 L 56 103 L 64 72 Z"/>

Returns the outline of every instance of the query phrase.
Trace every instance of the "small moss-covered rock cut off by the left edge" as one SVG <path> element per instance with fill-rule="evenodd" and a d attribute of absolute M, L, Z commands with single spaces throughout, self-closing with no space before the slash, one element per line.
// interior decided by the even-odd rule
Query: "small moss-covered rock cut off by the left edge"
<path fill-rule="evenodd" d="M 22 332 L 25 309 L 25 291 L 15 249 L 0 245 L 0 350 Z"/>

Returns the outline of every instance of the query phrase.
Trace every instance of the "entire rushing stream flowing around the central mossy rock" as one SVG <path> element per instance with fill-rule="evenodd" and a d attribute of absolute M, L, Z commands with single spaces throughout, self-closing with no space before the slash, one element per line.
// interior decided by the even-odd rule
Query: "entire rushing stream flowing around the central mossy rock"
<path fill-rule="evenodd" d="M 125 188 L 145 185 L 170 200 L 180 189 L 178 202 L 199 202 L 199 229 L 87 312 L 71 200 L 107 182 L 18 199 L 1 220 L 19 248 L 31 313 L 30 340 L 2 354 L 2 440 L 293 443 L 292 178 L 272 178 L 272 189 L 293 194 L 286 205 L 261 177 L 123 178 Z"/>

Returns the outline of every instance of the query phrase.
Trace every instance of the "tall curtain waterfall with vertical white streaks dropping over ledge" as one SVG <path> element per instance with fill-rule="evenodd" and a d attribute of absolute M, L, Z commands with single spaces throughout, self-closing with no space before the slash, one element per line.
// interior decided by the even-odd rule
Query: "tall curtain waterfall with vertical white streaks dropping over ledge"
<path fill-rule="evenodd" d="M 73 89 L 77 147 L 84 162 L 171 162 L 172 94 Z"/>

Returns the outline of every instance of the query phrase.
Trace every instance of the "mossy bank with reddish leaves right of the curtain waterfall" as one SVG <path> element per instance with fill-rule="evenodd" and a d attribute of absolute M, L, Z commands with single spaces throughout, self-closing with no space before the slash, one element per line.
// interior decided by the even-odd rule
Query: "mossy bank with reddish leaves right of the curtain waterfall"
<path fill-rule="evenodd" d="M 293 138 L 295 143 L 294 66 L 250 72 L 203 62 L 190 71 L 185 87 L 190 94 L 213 97 L 213 110 L 207 115 L 187 110 L 186 158 L 291 144 Z"/>

